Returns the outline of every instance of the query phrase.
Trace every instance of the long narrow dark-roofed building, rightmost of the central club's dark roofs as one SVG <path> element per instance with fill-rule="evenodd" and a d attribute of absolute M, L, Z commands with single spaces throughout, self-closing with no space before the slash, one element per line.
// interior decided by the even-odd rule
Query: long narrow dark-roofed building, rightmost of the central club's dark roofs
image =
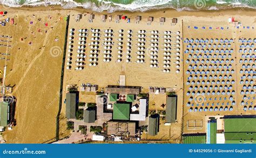
<path fill-rule="evenodd" d="M 165 122 L 173 123 L 177 119 L 177 95 L 166 97 Z"/>

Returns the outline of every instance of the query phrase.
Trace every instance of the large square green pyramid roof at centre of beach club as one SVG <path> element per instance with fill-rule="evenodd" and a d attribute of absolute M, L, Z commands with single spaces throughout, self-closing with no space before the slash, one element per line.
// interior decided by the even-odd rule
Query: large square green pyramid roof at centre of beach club
<path fill-rule="evenodd" d="M 113 120 L 129 120 L 130 119 L 130 104 L 114 104 L 113 105 Z"/>

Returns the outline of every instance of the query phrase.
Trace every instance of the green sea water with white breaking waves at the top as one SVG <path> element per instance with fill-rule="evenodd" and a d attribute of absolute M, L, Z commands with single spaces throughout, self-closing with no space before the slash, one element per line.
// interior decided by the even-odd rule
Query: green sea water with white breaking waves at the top
<path fill-rule="evenodd" d="M 256 9 L 256 0 L 0 0 L 9 6 L 60 4 L 63 8 L 81 6 L 93 11 L 146 11 L 158 8 L 181 10 Z"/>

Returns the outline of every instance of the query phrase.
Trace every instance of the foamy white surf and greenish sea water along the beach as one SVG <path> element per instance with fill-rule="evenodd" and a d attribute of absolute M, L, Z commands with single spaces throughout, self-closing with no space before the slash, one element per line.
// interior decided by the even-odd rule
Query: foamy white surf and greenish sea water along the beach
<path fill-rule="evenodd" d="M 133 1 L 137 2 L 137 1 Z M 79 2 L 74 0 L 68 1 L 30 1 L 22 4 L 16 4 L 12 1 L 3 2 L 7 7 L 19 8 L 19 7 L 37 7 L 37 6 L 56 6 L 60 5 L 63 9 L 82 8 L 92 10 L 96 12 L 107 11 L 109 13 L 118 11 L 130 11 L 130 12 L 147 12 L 152 10 L 165 10 L 174 9 L 177 11 L 207 11 L 207 10 L 228 10 L 228 9 L 252 9 L 256 10 L 254 3 L 198 3 L 197 1 L 167 1 L 164 3 L 115 3 L 112 1 L 88 1 Z M 0 3 L 0 5 L 3 5 Z"/>

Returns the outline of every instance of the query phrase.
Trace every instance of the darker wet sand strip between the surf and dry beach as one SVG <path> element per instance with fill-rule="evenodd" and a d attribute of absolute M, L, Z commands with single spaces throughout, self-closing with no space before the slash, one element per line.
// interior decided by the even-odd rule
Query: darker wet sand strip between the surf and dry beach
<path fill-rule="evenodd" d="M 0 4 L 0 8 L 3 8 L 3 5 Z M 111 14 L 111 15 L 130 15 L 130 16 L 137 16 L 138 13 L 140 15 L 145 16 L 152 16 L 155 17 L 215 17 L 215 16 L 256 16 L 255 9 L 250 8 L 232 8 L 232 9 L 221 9 L 221 10 L 199 10 L 199 11 L 177 11 L 176 9 L 172 8 L 165 8 L 165 9 L 151 9 L 145 12 L 140 11 L 115 11 L 109 13 L 107 11 L 97 12 L 92 11 L 90 9 L 84 9 L 82 7 L 76 7 L 71 9 L 63 9 L 60 5 L 49 5 L 49 6 L 22 6 L 20 8 L 8 8 L 10 11 L 59 11 L 59 12 L 66 12 L 66 13 L 94 13 L 95 15 L 103 15 L 103 14 Z M 75 11 L 75 12 L 74 12 Z"/>

